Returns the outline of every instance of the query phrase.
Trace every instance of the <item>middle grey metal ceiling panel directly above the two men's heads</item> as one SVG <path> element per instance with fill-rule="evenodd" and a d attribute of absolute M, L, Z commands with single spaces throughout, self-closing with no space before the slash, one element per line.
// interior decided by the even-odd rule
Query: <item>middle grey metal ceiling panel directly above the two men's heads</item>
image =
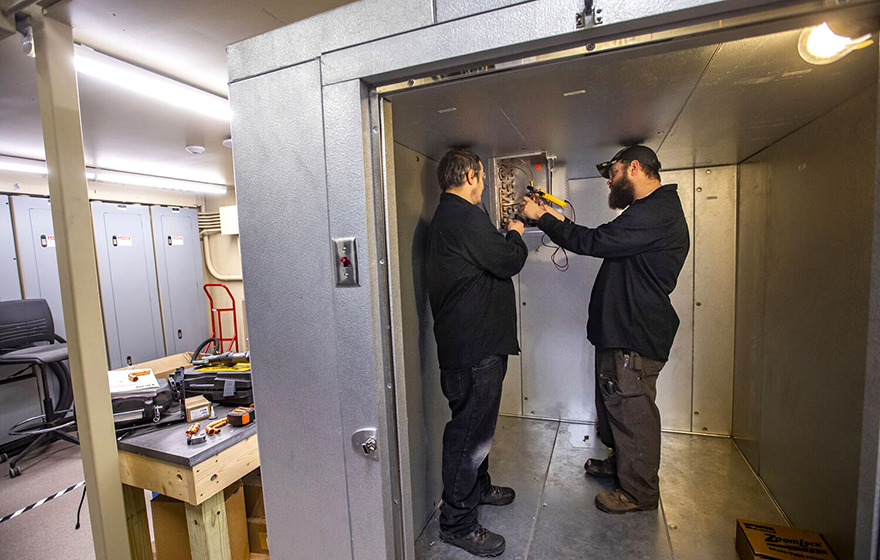
<path fill-rule="evenodd" d="M 660 146 L 714 50 L 581 58 L 490 76 L 483 89 L 525 148 L 556 155 L 572 178 L 598 177 L 621 145 Z"/>

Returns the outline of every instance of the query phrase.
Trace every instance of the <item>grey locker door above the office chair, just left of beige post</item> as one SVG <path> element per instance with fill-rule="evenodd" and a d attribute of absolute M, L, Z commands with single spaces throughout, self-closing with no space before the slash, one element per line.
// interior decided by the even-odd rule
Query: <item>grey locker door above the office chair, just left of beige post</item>
<path fill-rule="evenodd" d="M 55 255 L 55 228 L 52 226 L 49 199 L 13 196 L 10 201 L 18 239 L 24 297 L 45 299 L 52 311 L 55 333 L 66 338 L 58 259 Z"/>

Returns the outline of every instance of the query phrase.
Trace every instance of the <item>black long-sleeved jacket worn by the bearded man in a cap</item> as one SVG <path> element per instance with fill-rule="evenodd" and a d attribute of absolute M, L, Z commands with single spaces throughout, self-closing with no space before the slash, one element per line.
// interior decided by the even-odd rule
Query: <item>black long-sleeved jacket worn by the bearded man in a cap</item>
<path fill-rule="evenodd" d="M 597 228 L 549 214 L 538 227 L 568 251 L 604 259 L 590 296 L 590 342 L 667 361 L 679 324 L 669 294 L 690 249 L 678 185 L 663 185 Z"/>

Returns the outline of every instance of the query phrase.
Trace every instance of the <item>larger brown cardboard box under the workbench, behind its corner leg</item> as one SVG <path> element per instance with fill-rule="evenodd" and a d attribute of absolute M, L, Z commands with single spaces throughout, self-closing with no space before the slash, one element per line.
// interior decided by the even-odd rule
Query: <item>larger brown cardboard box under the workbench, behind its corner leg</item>
<path fill-rule="evenodd" d="M 248 523 L 244 514 L 241 481 L 227 486 L 223 494 L 226 498 L 231 560 L 248 560 Z M 153 498 L 150 507 L 153 510 L 153 532 L 156 536 L 156 560 L 192 560 L 184 503 L 159 495 Z"/>

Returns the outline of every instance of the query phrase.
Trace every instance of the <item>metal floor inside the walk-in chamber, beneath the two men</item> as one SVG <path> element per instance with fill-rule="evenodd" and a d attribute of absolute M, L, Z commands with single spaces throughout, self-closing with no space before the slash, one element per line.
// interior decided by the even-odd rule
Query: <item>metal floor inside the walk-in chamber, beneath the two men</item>
<path fill-rule="evenodd" d="M 489 472 L 517 497 L 479 512 L 480 522 L 507 540 L 498 558 L 736 560 L 738 517 L 785 524 L 730 439 L 663 434 L 661 508 L 623 516 L 602 513 L 593 502 L 613 481 L 584 473 L 587 458 L 606 454 L 591 426 L 501 417 Z M 416 541 L 416 557 L 473 558 L 440 541 L 436 511 Z"/>

